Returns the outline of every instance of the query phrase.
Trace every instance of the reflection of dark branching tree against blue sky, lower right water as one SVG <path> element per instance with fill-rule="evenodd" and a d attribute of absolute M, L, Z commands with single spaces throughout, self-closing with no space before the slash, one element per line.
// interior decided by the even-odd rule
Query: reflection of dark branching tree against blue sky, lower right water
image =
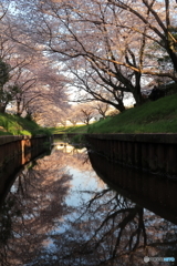
<path fill-rule="evenodd" d="M 69 231 L 53 236 L 59 265 L 143 265 L 145 255 L 175 256 L 176 226 L 108 188 L 79 213 Z"/>

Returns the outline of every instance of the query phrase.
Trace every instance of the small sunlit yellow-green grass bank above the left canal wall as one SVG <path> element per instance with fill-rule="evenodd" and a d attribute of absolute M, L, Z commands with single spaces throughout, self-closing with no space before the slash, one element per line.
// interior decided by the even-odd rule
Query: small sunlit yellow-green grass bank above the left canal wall
<path fill-rule="evenodd" d="M 19 117 L 18 115 L 0 114 L 0 135 L 38 135 L 50 134 L 33 121 Z"/>

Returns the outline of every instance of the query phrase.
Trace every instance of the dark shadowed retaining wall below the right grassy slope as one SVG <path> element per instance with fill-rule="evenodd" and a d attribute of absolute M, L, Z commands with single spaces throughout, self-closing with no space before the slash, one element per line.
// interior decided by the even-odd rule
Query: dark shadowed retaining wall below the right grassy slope
<path fill-rule="evenodd" d="M 177 134 L 85 134 L 90 149 L 134 168 L 177 175 Z"/>

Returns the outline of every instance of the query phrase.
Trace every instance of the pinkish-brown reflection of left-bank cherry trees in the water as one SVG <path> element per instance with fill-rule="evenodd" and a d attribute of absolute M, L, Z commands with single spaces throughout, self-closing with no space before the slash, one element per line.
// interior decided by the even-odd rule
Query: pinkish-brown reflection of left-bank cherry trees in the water
<path fill-rule="evenodd" d="M 62 161 L 53 153 L 29 164 L 11 187 L 0 216 L 2 265 L 24 265 L 41 256 L 49 232 L 72 211 L 64 204 L 72 176 Z"/>

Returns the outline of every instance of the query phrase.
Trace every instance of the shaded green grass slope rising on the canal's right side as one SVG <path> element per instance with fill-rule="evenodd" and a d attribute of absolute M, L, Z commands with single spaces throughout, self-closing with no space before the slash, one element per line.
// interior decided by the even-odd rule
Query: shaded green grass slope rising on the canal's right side
<path fill-rule="evenodd" d="M 77 133 L 177 133 L 177 94 L 147 102 L 88 126 L 71 127 Z"/>

